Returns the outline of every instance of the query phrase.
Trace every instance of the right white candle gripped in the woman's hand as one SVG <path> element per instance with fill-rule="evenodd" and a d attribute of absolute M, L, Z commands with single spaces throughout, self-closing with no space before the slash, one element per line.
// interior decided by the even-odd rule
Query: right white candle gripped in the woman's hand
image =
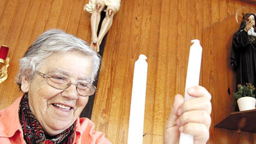
<path fill-rule="evenodd" d="M 189 63 L 186 76 L 186 87 L 184 99 L 189 100 L 193 97 L 187 93 L 187 89 L 191 86 L 198 86 L 200 77 L 200 67 L 202 59 L 202 47 L 199 40 L 191 40 L 193 45 L 189 51 Z M 194 138 L 190 134 L 180 133 L 179 144 L 193 144 Z"/>

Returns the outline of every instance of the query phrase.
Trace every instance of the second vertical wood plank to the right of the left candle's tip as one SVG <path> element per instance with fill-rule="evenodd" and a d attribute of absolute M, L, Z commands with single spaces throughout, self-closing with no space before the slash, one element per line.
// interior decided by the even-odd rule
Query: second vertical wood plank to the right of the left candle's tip
<path fill-rule="evenodd" d="M 165 114 L 165 99 L 166 99 L 166 74 L 167 74 L 167 51 L 168 51 L 168 37 L 169 37 L 169 10 L 170 6 L 167 4 L 170 1 L 161 2 L 161 16 L 159 28 L 159 51 L 157 56 L 157 76 L 156 76 L 156 92 L 154 98 L 154 119 L 153 119 L 153 134 L 163 135 L 164 114 Z M 153 136 L 154 138 L 154 136 Z M 153 139 L 154 141 L 154 139 Z"/>

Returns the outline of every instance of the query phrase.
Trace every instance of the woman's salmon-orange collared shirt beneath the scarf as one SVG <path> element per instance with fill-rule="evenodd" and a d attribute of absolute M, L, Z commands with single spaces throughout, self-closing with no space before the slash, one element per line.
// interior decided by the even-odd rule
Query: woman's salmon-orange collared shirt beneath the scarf
<path fill-rule="evenodd" d="M 19 102 L 15 100 L 9 107 L 0 111 L 0 143 L 26 144 L 19 122 Z M 111 144 L 105 134 L 94 131 L 94 124 L 88 118 L 77 118 L 74 133 L 74 144 Z"/>

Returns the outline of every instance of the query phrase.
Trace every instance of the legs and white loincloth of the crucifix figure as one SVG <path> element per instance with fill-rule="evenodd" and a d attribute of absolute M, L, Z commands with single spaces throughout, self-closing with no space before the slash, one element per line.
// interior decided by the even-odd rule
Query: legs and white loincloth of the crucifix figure
<path fill-rule="evenodd" d="M 121 0 L 89 0 L 89 3 L 84 6 L 84 10 L 91 13 L 91 30 L 92 30 L 92 41 L 90 46 L 95 51 L 99 52 L 99 45 L 102 39 L 110 29 L 113 22 L 113 15 L 119 10 Z M 106 17 L 104 18 L 99 35 L 97 30 L 100 21 L 100 14 L 102 10 L 106 11 Z"/>

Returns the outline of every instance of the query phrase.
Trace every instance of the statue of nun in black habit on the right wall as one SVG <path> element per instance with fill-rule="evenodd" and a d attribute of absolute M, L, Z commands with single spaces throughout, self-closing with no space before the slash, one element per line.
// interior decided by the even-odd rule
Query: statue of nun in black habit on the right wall
<path fill-rule="evenodd" d="M 231 66 L 237 72 L 236 84 L 256 82 L 256 28 L 255 15 L 243 15 L 241 25 L 233 35 Z"/>

